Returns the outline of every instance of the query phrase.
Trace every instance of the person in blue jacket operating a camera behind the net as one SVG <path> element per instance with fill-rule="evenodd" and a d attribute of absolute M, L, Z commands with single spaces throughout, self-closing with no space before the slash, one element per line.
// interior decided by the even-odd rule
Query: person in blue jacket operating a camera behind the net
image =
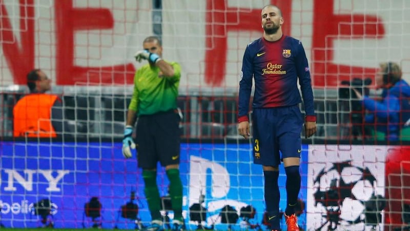
<path fill-rule="evenodd" d="M 362 95 L 355 88 L 353 91 L 367 111 L 364 122 L 372 124 L 374 133 L 383 134 L 384 140 L 397 141 L 400 129 L 410 118 L 410 86 L 401 79 L 401 69 L 397 63 L 380 63 L 379 66 L 375 82 L 377 88 L 383 89 L 380 100 Z"/>

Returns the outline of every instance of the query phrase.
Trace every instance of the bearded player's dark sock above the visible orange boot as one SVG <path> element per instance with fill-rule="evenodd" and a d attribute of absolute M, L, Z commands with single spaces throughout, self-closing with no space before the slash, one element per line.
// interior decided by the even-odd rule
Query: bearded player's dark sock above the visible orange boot
<path fill-rule="evenodd" d="M 288 202 L 286 202 L 286 215 L 295 213 L 295 207 L 298 201 L 300 190 L 300 173 L 299 166 L 285 167 L 286 171 L 286 194 L 288 195 Z"/>

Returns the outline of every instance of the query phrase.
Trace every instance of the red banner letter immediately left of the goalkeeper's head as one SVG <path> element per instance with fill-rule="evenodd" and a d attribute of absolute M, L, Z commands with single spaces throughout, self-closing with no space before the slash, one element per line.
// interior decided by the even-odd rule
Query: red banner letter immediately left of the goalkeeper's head
<path fill-rule="evenodd" d="M 114 20 L 109 9 L 73 8 L 72 0 L 55 1 L 56 78 L 58 85 L 75 83 L 124 84 L 133 82 L 134 66 L 74 66 L 74 32 L 77 30 L 111 29 Z"/>

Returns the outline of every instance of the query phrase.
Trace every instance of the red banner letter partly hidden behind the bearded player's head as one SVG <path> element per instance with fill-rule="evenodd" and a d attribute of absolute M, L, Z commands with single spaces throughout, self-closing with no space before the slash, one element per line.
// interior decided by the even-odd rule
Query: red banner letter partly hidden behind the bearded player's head
<path fill-rule="evenodd" d="M 206 52 L 205 82 L 212 86 L 220 86 L 226 74 L 229 31 L 259 31 L 261 28 L 262 9 L 241 9 L 227 7 L 226 0 L 207 0 L 206 13 Z M 283 15 L 291 15 L 292 0 L 271 1 L 282 9 Z M 289 34 L 291 18 L 286 18 L 283 33 Z M 250 41 L 251 42 L 251 41 Z M 243 50 L 245 47 L 243 47 Z"/>

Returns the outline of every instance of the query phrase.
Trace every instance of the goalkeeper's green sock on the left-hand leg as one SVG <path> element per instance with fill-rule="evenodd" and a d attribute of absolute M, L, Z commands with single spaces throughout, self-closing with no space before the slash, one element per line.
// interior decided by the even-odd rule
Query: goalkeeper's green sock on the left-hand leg
<path fill-rule="evenodd" d="M 157 172 L 156 171 L 149 171 L 149 170 L 142 170 L 142 178 L 144 178 L 145 182 L 145 197 L 147 198 L 148 208 L 151 212 L 151 219 L 152 220 L 161 220 L 161 213 L 160 210 L 160 201 L 159 198 L 159 190 L 157 186 Z"/>

